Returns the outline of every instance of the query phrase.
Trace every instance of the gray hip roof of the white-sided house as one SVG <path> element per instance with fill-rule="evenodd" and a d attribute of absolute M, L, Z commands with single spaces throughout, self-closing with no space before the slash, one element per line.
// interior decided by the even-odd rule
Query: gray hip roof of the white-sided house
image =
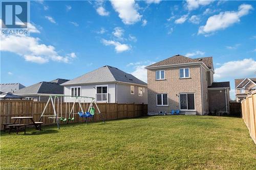
<path fill-rule="evenodd" d="M 126 72 L 109 65 L 100 67 L 61 85 L 96 84 L 104 82 L 125 82 L 147 85 L 145 82 L 137 79 L 133 75 L 127 74 Z"/>

